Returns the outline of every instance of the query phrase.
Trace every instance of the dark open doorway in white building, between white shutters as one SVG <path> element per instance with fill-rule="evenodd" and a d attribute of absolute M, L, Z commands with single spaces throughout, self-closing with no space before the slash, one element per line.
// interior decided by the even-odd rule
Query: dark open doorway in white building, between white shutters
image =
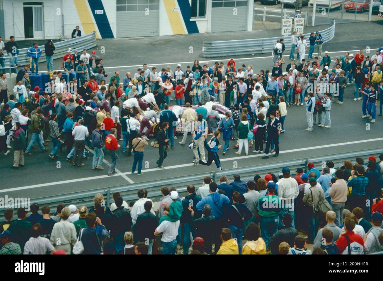
<path fill-rule="evenodd" d="M 24 5 L 25 38 L 43 39 L 43 5 Z"/>

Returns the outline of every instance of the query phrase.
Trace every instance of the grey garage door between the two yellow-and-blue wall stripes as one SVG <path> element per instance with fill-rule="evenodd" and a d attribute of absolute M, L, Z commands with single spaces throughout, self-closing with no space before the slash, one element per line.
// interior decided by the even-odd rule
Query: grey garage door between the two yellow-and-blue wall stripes
<path fill-rule="evenodd" d="M 159 0 L 117 0 L 117 38 L 158 36 Z"/>

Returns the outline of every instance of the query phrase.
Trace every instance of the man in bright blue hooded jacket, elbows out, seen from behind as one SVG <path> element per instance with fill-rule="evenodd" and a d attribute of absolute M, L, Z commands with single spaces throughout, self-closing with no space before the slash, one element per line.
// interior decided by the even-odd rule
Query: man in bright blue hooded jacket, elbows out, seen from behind
<path fill-rule="evenodd" d="M 221 247 L 221 229 L 222 229 L 222 215 L 223 208 L 230 203 L 228 196 L 220 194 L 217 191 L 217 184 L 212 182 L 209 184 L 210 194 L 199 201 L 196 205 L 198 212 L 202 213 L 203 206 L 209 204 L 211 207 L 211 216 L 215 217 L 214 220 L 214 244 L 215 252 L 218 252 L 219 247 Z"/>

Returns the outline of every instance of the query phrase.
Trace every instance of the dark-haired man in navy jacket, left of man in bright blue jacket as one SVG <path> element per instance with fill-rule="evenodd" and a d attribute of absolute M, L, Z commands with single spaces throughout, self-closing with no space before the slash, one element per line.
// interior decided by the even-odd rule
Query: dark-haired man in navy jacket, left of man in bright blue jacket
<path fill-rule="evenodd" d="M 183 254 L 184 255 L 188 255 L 188 252 L 189 252 L 190 232 L 193 235 L 193 239 L 195 236 L 194 235 L 195 227 L 191 226 L 189 206 L 193 209 L 193 212 L 195 213 L 194 218 L 198 219 L 201 217 L 201 214 L 197 212 L 196 206 L 198 202 L 202 200 L 201 197 L 195 193 L 194 185 L 188 185 L 187 192 L 188 192 L 188 195 L 185 197 L 185 199 L 182 200 L 183 212 L 182 212 L 181 221 L 180 221 L 183 226 Z"/>

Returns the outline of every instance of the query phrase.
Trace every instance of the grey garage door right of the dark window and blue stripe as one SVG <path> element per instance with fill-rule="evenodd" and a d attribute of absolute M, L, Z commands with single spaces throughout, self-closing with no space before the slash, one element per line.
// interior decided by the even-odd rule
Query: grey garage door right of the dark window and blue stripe
<path fill-rule="evenodd" d="M 211 32 L 247 30 L 247 1 L 213 0 Z"/>

